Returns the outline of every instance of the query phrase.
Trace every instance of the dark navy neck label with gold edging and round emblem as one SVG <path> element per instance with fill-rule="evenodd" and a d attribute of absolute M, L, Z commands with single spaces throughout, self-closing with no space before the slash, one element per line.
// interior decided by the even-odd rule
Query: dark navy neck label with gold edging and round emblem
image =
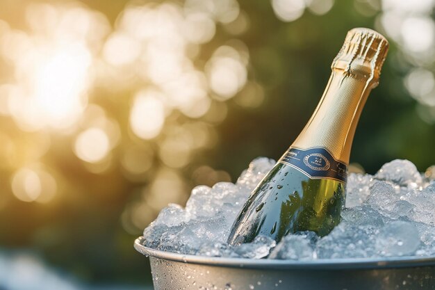
<path fill-rule="evenodd" d="M 278 162 L 292 166 L 313 179 L 326 178 L 346 182 L 347 165 L 334 159 L 324 147 L 305 150 L 290 147 Z"/>

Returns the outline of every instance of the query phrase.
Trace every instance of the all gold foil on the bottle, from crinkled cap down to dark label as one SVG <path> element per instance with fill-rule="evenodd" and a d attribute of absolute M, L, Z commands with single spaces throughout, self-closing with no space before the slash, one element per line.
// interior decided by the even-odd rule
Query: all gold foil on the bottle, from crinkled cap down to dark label
<path fill-rule="evenodd" d="M 348 164 L 356 124 L 370 90 L 379 83 L 387 52 L 387 40 L 376 31 L 349 31 L 331 65 L 322 99 L 291 147 L 325 147 Z"/>

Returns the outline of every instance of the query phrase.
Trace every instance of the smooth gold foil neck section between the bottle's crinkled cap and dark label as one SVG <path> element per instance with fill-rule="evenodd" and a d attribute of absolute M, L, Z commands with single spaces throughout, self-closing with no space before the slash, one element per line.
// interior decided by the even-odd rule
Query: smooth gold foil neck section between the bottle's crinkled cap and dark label
<path fill-rule="evenodd" d="M 322 99 L 291 147 L 325 147 L 334 159 L 348 164 L 356 124 L 375 86 L 372 77 L 333 68 Z"/>

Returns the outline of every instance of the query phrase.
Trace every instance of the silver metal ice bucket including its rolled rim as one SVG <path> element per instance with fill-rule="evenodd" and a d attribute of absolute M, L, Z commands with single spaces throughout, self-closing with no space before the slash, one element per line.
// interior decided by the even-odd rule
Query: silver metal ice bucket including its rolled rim
<path fill-rule="evenodd" d="M 285 261 L 200 257 L 134 247 L 149 256 L 155 290 L 435 289 L 435 256 Z"/>

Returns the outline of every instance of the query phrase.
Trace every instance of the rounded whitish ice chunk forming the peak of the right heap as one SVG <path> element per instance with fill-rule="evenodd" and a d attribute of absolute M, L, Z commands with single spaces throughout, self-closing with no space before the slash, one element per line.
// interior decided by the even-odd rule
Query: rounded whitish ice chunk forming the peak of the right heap
<path fill-rule="evenodd" d="M 422 184 L 422 177 L 416 166 L 411 161 L 402 159 L 385 163 L 376 173 L 375 178 L 413 188 Z"/>

